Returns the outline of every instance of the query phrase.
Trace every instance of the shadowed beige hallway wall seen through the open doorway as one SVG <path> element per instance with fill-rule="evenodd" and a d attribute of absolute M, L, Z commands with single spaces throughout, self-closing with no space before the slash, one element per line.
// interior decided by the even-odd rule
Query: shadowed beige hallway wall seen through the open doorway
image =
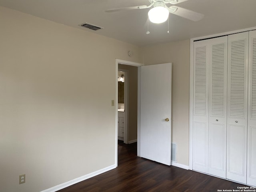
<path fill-rule="evenodd" d="M 137 139 L 137 111 L 138 111 L 138 67 L 118 64 L 118 68 L 128 70 L 128 98 L 129 98 L 129 114 L 128 127 L 129 138 L 128 141 Z"/>

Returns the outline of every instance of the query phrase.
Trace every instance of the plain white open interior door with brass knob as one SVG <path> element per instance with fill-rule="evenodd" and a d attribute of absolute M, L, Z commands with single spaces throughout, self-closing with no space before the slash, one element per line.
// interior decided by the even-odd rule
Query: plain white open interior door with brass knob
<path fill-rule="evenodd" d="M 171 63 L 140 67 L 139 156 L 166 165 L 171 164 L 171 96 Z"/>

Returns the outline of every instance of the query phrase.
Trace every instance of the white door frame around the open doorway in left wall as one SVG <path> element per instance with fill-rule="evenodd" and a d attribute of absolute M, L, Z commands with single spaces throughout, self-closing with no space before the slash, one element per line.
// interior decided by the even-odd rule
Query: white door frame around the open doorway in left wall
<path fill-rule="evenodd" d="M 138 116 L 137 116 L 137 148 L 138 148 L 138 156 L 139 156 L 139 144 L 140 144 L 140 140 L 139 140 L 139 130 L 140 130 L 140 123 L 139 123 L 139 114 L 140 114 L 140 100 L 139 100 L 139 96 L 140 96 L 140 66 L 144 66 L 144 64 L 142 63 L 136 63 L 136 62 L 131 62 L 131 61 L 126 61 L 126 60 L 121 60 L 121 59 L 116 59 L 116 101 L 115 101 L 115 105 L 116 105 L 116 121 L 115 121 L 115 129 L 116 129 L 116 134 L 115 134 L 115 165 L 116 167 L 118 166 L 118 80 L 117 80 L 117 76 L 118 76 L 118 64 L 124 64 L 124 65 L 130 65 L 130 66 L 136 66 L 138 67 Z M 126 112 L 126 116 L 128 115 L 128 112 Z M 126 120 L 127 121 L 127 120 Z M 127 128 L 126 128 L 127 129 Z M 127 141 L 129 142 L 129 141 Z"/>

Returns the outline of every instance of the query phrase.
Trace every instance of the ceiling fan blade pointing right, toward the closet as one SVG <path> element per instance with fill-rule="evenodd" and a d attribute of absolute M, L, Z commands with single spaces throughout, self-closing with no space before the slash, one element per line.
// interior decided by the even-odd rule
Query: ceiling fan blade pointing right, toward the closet
<path fill-rule="evenodd" d="M 192 20 L 192 21 L 199 21 L 204 17 L 204 15 L 201 13 L 197 13 L 197 12 L 194 12 L 194 11 L 191 11 L 188 9 L 184 9 L 181 7 L 177 7 L 177 6 L 170 6 L 169 11 L 172 14 L 184 17 L 184 18 Z"/>

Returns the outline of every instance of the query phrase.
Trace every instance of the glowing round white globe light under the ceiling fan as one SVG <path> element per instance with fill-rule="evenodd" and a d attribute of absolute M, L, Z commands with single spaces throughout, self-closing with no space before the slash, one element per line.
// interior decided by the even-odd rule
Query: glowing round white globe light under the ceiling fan
<path fill-rule="evenodd" d="M 164 6 L 155 6 L 148 12 L 148 18 L 152 23 L 163 23 L 168 19 L 169 10 Z"/>

